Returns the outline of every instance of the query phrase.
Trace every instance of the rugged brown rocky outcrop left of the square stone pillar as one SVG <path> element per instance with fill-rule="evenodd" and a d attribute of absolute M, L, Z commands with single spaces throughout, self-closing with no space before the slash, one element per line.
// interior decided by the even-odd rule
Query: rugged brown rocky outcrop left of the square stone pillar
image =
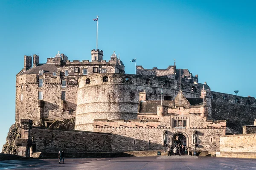
<path fill-rule="evenodd" d="M 13 124 L 6 137 L 6 144 L 3 145 L 2 153 L 17 155 L 17 146 L 15 145 L 15 139 L 20 138 L 20 124 Z"/>

